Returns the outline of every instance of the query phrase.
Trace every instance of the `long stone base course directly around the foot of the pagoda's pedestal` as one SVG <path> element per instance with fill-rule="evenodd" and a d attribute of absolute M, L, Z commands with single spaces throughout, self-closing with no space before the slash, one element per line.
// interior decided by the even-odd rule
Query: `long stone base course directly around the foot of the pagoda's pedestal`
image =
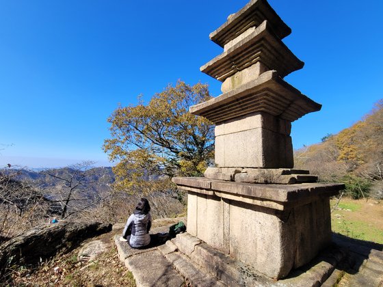
<path fill-rule="evenodd" d="M 329 247 L 308 267 L 296 269 L 287 278 L 276 281 L 187 233 L 177 235 L 166 245 L 168 251 L 182 254 L 228 286 L 321 286 L 325 282 L 324 286 L 332 286 L 337 279 L 337 275 L 331 277 L 332 272 L 346 258 L 343 249 Z"/>

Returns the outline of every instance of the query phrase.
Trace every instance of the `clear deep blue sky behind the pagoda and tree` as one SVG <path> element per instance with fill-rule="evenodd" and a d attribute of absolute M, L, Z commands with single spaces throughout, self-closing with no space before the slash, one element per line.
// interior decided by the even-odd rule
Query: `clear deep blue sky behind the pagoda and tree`
<path fill-rule="evenodd" d="M 0 167 L 107 165 L 107 118 L 222 53 L 209 40 L 248 1 L 0 0 Z M 305 66 L 285 78 L 323 108 L 293 122 L 293 146 L 319 142 L 383 98 L 383 1 L 269 0 Z M 364 4 L 363 4 L 364 3 Z"/>

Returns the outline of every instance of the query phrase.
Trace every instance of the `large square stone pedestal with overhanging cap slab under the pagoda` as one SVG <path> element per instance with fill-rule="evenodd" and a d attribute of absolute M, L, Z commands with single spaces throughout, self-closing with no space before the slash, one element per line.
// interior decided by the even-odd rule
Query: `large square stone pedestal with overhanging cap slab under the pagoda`
<path fill-rule="evenodd" d="M 329 197 L 343 184 L 247 184 L 174 178 L 188 192 L 187 232 L 281 278 L 330 243 Z"/>

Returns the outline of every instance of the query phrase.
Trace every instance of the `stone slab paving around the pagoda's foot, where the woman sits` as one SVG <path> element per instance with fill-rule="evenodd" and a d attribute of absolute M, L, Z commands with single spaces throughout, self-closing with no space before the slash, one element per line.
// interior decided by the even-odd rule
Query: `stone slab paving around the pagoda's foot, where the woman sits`
<path fill-rule="evenodd" d="M 151 233 L 166 232 L 168 226 Z M 383 245 L 333 234 L 333 244 L 287 278 L 274 280 L 187 233 L 133 249 L 114 236 L 137 286 L 383 286 Z"/>

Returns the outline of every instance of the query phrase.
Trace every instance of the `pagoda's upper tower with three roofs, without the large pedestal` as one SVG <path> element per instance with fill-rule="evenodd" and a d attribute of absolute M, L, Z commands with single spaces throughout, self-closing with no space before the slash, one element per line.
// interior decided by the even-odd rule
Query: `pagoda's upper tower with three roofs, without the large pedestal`
<path fill-rule="evenodd" d="M 224 52 L 200 70 L 223 82 L 223 94 L 189 111 L 216 125 L 217 167 L 293 168 L 291 122 L 321 105 L 282 79 L 304 66 L 281 40 L 289 33 L 267 1 L 259 0 L 211 34 Z M 276 183 L 314 180 L 283 177 Z M 249 174 L 237 181 L 263 182 Z"/>

